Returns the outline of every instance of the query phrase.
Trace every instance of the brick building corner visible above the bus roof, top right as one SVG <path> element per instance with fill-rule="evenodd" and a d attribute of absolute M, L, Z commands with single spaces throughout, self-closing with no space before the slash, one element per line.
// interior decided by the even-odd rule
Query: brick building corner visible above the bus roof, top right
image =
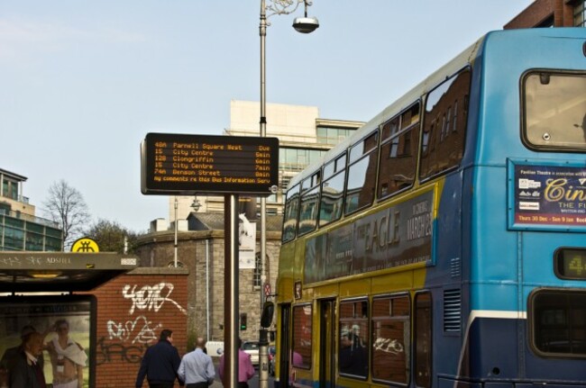
<path fill-rule="evenodd" d="M 585 27 L 585 3 L 586 0 L 536 0 L 503 28 Z"/>

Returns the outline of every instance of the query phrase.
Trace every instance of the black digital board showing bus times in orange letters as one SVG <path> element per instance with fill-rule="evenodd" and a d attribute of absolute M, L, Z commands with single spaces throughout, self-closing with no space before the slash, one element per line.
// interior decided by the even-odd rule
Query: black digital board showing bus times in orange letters
<path fill-rule="evenodd" d="M 279 185 L 277 138 L 147 133 L 142 194 L 270 195 Z"/>

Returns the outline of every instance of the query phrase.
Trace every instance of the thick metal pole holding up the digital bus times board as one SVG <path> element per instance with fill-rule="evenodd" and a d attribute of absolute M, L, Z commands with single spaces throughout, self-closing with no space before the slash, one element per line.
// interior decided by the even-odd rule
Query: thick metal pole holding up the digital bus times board
<path fill-rule="evenodd" d="M 238 195 L 224 196 L 224 380 L 238 386 Z"/>

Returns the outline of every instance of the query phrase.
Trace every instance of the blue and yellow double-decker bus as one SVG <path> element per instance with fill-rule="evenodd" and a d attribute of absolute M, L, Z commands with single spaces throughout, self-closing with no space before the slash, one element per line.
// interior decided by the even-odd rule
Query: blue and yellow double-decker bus
<path fill-rule="evenodd" d="M 586 386 L 585 152 L 586 29 L 533 29 L 488 33 L 307 167 L 279 385 Z"/>

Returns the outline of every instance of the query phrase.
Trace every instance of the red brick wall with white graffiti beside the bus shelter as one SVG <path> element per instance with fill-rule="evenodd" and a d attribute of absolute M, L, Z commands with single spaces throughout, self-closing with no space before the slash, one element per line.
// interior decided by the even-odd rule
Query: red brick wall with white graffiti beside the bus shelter
<path fill-rule="evenodd" d="M 91 293 L 97 301 L 96 387 L 133 387 L 144 350 L 161 329 L 173 330 L 179 355 L 186 353 L 187 269 L 137 268 Z"/>

